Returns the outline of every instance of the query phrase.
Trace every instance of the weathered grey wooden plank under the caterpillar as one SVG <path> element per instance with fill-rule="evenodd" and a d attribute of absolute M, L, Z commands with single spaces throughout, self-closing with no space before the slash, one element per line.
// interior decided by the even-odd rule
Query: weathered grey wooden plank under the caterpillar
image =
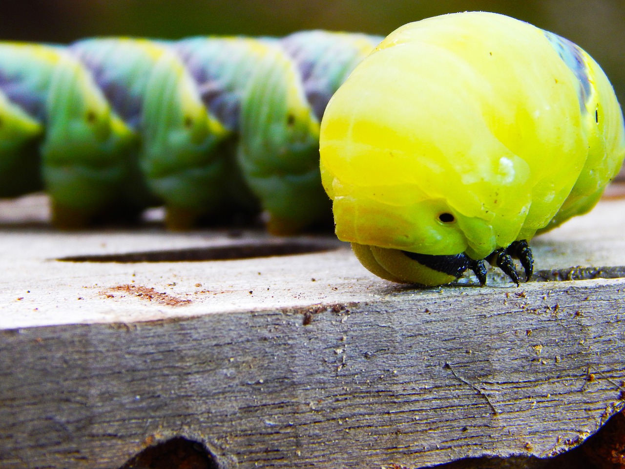
<path fill-rule="evenodd" d="M 605 266 L 617 278 L 520 288 L 496 276 L 484 288 L 397 286 L 345 246 L 54 260 L 273 242 L 245 233 L 1 231 L 3 469 L 117 468 L 178 435 L 223 468 L 546 457 L 624 405 L 622 199 L 532 243 L 537 270 Z"/>

